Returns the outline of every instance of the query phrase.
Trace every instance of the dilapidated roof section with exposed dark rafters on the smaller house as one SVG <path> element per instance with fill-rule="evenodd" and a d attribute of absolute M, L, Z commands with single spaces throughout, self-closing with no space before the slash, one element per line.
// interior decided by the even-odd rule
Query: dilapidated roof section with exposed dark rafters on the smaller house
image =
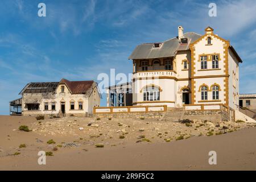
<path fill-rule="evenodd" d="M 53 93 L 59 82 L 30 82 L 19 94 L 23 93 Z"/>

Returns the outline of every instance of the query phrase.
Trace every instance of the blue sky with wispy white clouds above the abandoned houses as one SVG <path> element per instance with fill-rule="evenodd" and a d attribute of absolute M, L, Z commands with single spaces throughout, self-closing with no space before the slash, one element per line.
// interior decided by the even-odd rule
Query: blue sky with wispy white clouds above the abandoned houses
<path fill-rule="evenodd" d="M 46 17 L 38 16 L 38 3 Z M 208 5 L 217 5 L 217 17 Z M 256 2 L 88 0 L 10 1 L 0 6 L 0 114 L 28 82 L 95 80 L 99 73 L 131 73 L 137 44 L 162 42 L 211 26 L 241 56 L 240 93 L 256 92 Z M 105 96 L 101 105 L 105 105 Z"/>

